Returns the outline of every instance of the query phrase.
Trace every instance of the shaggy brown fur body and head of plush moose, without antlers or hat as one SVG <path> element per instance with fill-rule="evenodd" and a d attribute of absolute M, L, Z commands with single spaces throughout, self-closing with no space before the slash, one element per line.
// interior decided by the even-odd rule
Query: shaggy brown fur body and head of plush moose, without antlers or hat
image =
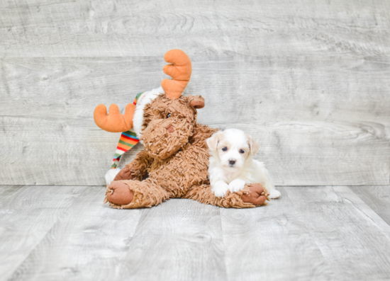
<path fill-rule="evenodd" d="M 172 100 L 161 94 L 145 106 L 140 137 L 145 150 L 116 176 L 115 180 L 124 184 L 114 181 L 108 185 L 106 201 L 112 207 L 151 207 L 177 197 L 220 207 L 265 204 L 267 190 L 258 184 L 247 185 L 244 190 L 225 197 L 216 197 L 211 192 L 206 139 L 217 130 L 196 123 L 195 107 L 202 104 L 204 99 L 200 96 L 179 96 Z M 146 175 L 148 178 L 143 180 Z M 132 199 L 124 202 L 118 194 Z"/>

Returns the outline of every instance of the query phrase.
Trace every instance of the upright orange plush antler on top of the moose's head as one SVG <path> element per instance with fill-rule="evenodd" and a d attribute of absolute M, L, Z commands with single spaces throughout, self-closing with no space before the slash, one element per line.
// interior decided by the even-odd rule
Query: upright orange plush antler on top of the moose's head
<path fill-rule="evenodd" d="M 191 59 L 182 50 L 170 50 L 164 56 L 165 62 L 170 64 L 165 65 L 162 69 L 165 74 L 172 77 L 172 79 L 163 79 L 161 86 L 165 91 L 165 95 L 175 100 L 182 95 L 184 88 L 186 88 L 189 79 L 191 78 Z"/>

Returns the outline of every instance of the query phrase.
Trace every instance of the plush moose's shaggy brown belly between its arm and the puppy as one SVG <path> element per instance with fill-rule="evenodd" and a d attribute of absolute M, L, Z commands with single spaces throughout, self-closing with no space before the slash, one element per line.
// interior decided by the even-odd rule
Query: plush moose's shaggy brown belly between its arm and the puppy
<path fill-rule="evenodd" d="M 149 170 L 171 197 L 182 197 L 194 185 L 208 182 L 208 150 L 187 144 L 174 156 L 155 161 Z"/>

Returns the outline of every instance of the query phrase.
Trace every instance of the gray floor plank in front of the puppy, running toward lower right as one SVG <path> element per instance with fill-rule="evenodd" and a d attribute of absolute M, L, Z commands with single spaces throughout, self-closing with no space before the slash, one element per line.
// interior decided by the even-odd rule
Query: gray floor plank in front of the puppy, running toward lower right
<path fill-rule="evenodd" d="M 221 209 L 228 280 L 333 280 L 284 188 L 266 207 Z"/>

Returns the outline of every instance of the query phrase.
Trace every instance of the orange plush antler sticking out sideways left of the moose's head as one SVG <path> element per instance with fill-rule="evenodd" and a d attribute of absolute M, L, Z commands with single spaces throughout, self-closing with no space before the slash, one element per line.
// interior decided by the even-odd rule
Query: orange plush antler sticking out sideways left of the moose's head
<path fill-rule="evenodd" d="M 133 127 L 133 115 L 135 105 L 129 103 L 126 105 L 124 115 L 119 111 L 118 105 L 110 105 L 110 113 L 107 114 L 106 105 L 98 105 L 94 111 L 94 120 L 96 125 L 107 132 L 126 132 Z"/>

